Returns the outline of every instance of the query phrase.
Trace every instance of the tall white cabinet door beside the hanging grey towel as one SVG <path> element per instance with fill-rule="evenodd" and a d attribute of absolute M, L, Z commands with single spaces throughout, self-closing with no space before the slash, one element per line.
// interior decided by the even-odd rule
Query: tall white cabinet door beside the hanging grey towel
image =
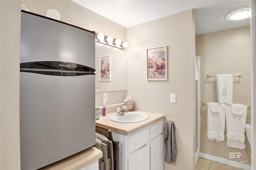
<path fill-rule="evenodd" d="M 150 170 L 164 169 L 164 133 L 150 141 Z"/>

